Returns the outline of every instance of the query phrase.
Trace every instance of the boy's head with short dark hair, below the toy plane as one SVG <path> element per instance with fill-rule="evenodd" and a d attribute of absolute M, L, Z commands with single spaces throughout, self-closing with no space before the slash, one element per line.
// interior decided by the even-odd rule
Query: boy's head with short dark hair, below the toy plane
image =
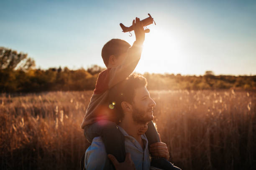
<path fill-rule="evenodd" d="M 101 56 L 106 67 L 116 67 L 126 58 L 126 52 L 131 45 L 125 40 L 112 39 L 102 48 Z"/>

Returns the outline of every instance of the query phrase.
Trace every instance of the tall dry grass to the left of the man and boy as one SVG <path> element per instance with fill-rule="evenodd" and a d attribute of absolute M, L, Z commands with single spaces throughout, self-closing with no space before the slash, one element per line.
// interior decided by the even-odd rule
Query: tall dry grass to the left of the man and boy
<path fill-rule="evenodd" d="M 77 169 L 87 146 L 80 123 L 91 95 L 1 97 L 0 169 Z"/>

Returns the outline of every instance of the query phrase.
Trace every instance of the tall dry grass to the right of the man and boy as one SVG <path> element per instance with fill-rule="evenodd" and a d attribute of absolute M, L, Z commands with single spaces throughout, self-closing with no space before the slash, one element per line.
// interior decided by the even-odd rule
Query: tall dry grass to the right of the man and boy
<path fill-rule="evenodd" d="M 256 168 L 255 92 L 155 92 L 156 124 L 184 169 Z"/>

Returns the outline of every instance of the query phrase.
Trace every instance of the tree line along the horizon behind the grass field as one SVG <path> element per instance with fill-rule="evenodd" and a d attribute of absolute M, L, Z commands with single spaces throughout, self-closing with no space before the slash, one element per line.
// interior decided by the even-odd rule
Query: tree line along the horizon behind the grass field
<path fill-rule="evenodd" d="M 18 53 L 0 47 L 0 92 L 41 92 L 55 90 L 93 90 L 98 74 L 104 70 L 97 65 L 84 69 L 35 68 L 35 61 L 22 52 Z M 149 90 L 204 90 L 204 89 L 256 89 L 256 75 L 233 76 L 214 75 L 174 75 L 144 73 Z"/>

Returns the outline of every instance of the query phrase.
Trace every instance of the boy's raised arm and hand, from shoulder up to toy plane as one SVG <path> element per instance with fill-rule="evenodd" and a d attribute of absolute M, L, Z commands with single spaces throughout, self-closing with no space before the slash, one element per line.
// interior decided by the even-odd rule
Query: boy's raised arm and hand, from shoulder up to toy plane
<path fill-rule="evenodd" d="M 133 72 L 141 58 L 142 45 L 145 40 L 145 30 L 140 19 L 137 17 L 136 22 L 133 20 L 133 27 L 136 41 L 133 43 L 133 46 L 128 49 L 124 62 L 120 66 L 110 70 L 109 88 L 128 77 L 128 75 Z"/>

